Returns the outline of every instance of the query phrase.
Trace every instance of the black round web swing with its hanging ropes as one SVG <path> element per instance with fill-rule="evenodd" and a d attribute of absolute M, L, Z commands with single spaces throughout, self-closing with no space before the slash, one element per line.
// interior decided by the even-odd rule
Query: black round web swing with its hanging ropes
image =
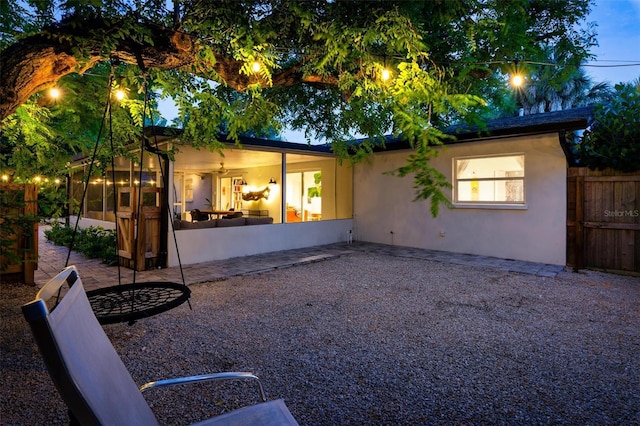
<path fill-rule="evenodd" d="M 143 68 L 144 72 L 144 68 Z M 112 181 L 115 182 L 115 166 L 114 166 L 114 147 L 113 147 L 113 131 L 112 131 L 112 115 L 111 115 L 111 89 L 113 85 L 113 64 L 111 73 L 109 76 L 109 87 L 107 90 L 107 101 L 105 105 L 104 115 L 102 118 L 102 123 L 100 125 L 100 130 L 98 131 L 98 137 L 96 138 L 96 144 L 93 151 L 93 156 L 91 158 L 91 162 L 89 163 L 89 170 L 87 172 L 87 182 L 92 173 L 92 169 L 96 160 L 96 154 L 98 152 L 98 145 L 100 142 L 100 137 L 104 128 L 104 123 L 109 120 L 109 133 L 110 133 L 110 143 L 111 143 L 111 173 L 112 173 Z M 135 220 L 140 220 L 141 217 L 141 209 L 142 209 L 142 182 L 143 182 L 143 169 L 142 165 L 144 164 L 144 154 L 145 150 L 149 151 L 149 153 L 155 153 L 158 156 L 159 164 L 163 164 L 163 158 L 161 155 L 161 151 L 158 148 L 158 141 L 155 135 L 153 134 L 153 140 L 155 142 L 155 147 L 151 147 L 145 141 L 144 134 L 144 122 L 146 119 L 146 111 L 149 103 L 149 89 L 146 81 L 146 73 L 144 79 L 144 107 L 143 107 L 143 129 L 141 135 L 141 143 L 140 143 L 140 161 L 139 161 L 139 170 L 138 170 L 138 179 L 140 190 L 137 191 L 138 201 L 137 201 L 137 210 L 135 213 Z M 151 117 L 151 112 L 149 112 L 150 121 L 153 123 L 153 119 Z M 153 128 L 153 127 L 152 127 Z M 165 161 L 168 161 L 168 158 L 165 156 Z M 164 167 L 160 167 L 160 172 L 162 176 L 162 181 L 166 182 Z M 166 186 L 166 185 L 165 185 Z M 87 194 L 87 189 L 89 185 L 85 185 L 84 192 L 82 194 L 82 200 L 80 201 L 80 207 L 78 211 L 78 216 L 75 224 L 75 230 L 72 236 L 71 244 L 69 246 L 69 253 L 67 255 L 67 261 L 65 262 L 65 267 L 68 266 L 69 257 L 71 254 L 71 250 L 73 248 L 73 243 L 75 239 L 75 235 L 78 231 L 78 225 L 81 218 L 84 201 Z M 113 191 L 114 193 L 114 215 L 116 216 L 116 235 L 119 235 L 118 229 L 118 220 L 117 220 L 117 191 Z M 167 214 L 171 215 L 168 197 L 163 196 L 160 197 L 162 201 L 162 209 L 165 209 Z M 161 215 L 162 217 L 163 215 Z M 168 311 L 177 306 L 180 306 L 184 302 L 189 303 L 189 308 L 191 308 L 191 303 L 189 302 L 189 297 L 191 296 L 191 290 L 187 287 L 184 279 L 184 272 L 182 270 L 182 262 L 180 260 L 180 252 L 178 250 L 178 242 L 175 238 L 175 229 L 173 227 L 173 221 L 168 221 L 171 226 L 171 230 L 173 232 L 173 240 L 175 242 L 175 249 L 178 256 L 178 264 L 180 267 L 180 275 L 182 277 L 182 283 L 175 282 L 165 282 L 165 281 L 152 281 L 152 282 L 136 282 L 136 271 L 138 265 L 138 250 L 133 250 L 133 282 L 128 284 L 122 284 L 121 282 L 121 273 L 120 273 L 120 262 L 118 262 L 118 285 L 102 287 L 96 290 L 87 291 L 87 297 L 89 302 L 91 303 L 91 308 L 94 311 L 94 314 L 98 318 L 98 321 L 101 324 L 114 324 L 127 322 L 129 324 L 133 324 L 136 320 L 147 318 L 152 315 L 157 315 L 159 313 Z M 139 237 L 140 237 L 140 227 L 142 224 L 137 223 L 131 224 L 134 226 L 134 247 L 138 247 Z M 117 238 L 119 241 L 119 238 Z M 116 250 L 119 249 L 118 242 L 116 242 Z"/>

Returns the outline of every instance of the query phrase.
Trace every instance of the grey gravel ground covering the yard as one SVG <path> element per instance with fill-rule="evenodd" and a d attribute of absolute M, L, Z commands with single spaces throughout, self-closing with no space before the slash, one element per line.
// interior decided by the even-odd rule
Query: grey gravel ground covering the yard
<path fill-rule="evenodd" d="M 105 326 L 136 382 L 252 371 L 301 425 L 640 424 L 639 278 L 362 253 L 191 289 L 193 310 Z M 67 421 L 20 313 L 34 292 L 1 289 L 3 425 Z M 246 386 L 146 396 L 184 424 Z"/>

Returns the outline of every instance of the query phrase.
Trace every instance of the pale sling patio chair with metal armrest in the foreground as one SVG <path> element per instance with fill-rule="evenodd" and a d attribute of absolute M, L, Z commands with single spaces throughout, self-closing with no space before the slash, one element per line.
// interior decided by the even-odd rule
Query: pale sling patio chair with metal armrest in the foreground
<path fill-rule="evenodd" d="M 46 302 L 59 298 L 49 309 Z M 198 424 L 297 425 L 284 401 L 266 401 L 262 385 L 250 373 L 213 373 L 149 382 L 140 388 L 98 323 L 74 266 L 47 282 L 34 301 L 22 307 L 49 375 L 69 408 L 72 424 L 157 425 L 142 392 L 164 386 L 210 380 L 250 380 L 262 402 Z M 181 404 L 182 405 L 182 404 Z"/>

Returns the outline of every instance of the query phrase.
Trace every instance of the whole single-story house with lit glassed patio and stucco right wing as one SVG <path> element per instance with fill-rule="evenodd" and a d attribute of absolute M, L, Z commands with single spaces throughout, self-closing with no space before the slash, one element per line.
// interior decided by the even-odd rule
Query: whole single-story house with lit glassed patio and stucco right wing
<path fill-rule="evenodd" d="M 350 238 L 564 265 L 572 161 L 566 137 L 585 129 L 591 113 L 576 108 L 449 129 L 456 140 L 438 148 L 432 164 L 452 185 L 452 207 L 436 218 L 428 201 L 413 201 L 410 176 L 385 174 L 412 152 L 400 140 L 351 166 L 325 145 L 244 138 L 242 149 L 230 144 L 221 156 L 153 129 L 156 141 L 179 148 L 175 161 L 145 156 L 140 174 L 115 161 L 115 178 L 89 184 L 81 225 L 115 226 L 114 187 L 156 186 L 169 189 L 171 217 L 162 220 L 159 245 L 168 266 L 178 264 L 175 242 L 181 263 L 191 264 Z M 77 199 L 82 174 L 72 174 Z M 195 221 L 196 209 L 211 213 Z M 215 213 L 231 210 L 242 217 Z"/>

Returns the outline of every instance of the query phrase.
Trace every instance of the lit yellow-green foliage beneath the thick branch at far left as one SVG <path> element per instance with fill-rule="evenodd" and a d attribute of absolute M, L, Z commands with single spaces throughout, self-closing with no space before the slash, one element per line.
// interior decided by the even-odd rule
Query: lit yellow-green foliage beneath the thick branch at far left
<path fill-rule="evenodd" d="M 95 173 L 102 174 L 113 156 L 127 156 L 132 142 L 139 141 L 143 124 L 143 94 L 129 91 L 122 101 L 110 99 L 109 64 L 94 67 L 90 74 L 70 74 L 57 84 L 59 101 L 40 93 L 18 108 L 0 132 L 0 170 L 11 170 L 14 179 L 34 175 L 63 176 L 74 154 L 93 152 L 100 136 Z M 142 78 L 122 67 L 113 88 L 138 87 Z M 146 116 L 158 117 L 151 99 Z M 113 146 L 112 146 L 113 143 Z M 139 142 L 138 142 L 139 143 Z"/>

